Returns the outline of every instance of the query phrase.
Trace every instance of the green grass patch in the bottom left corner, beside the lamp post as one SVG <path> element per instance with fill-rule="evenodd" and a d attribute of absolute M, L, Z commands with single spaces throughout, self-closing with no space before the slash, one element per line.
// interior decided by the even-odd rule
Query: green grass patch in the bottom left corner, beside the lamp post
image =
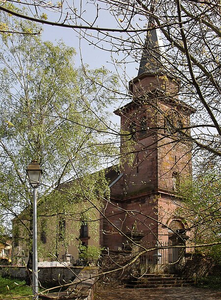
<path fill-rule="evenodd" d="M 23 299 L 30 300 L 32 294 L 31 287 L 25 284 L 25 281 L 0 277 L 0 299 Z"/>

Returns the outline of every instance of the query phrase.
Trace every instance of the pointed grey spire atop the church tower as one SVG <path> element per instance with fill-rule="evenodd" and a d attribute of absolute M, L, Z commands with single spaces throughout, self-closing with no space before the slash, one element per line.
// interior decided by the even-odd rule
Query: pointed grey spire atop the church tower
<path fill-rule="evenodd" d="M 153 24 L 152 24 L 153 26 Z M 140 60 L 138 76 L 142 73 L 156 73 L 162 68 L 164 44 L 159 29 L 148 32 Z"/>

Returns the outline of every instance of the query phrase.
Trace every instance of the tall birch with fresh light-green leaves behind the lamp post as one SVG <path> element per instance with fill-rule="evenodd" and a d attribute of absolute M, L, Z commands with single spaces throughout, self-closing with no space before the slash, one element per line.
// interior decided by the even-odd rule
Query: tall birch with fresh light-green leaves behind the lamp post
<path fill-rule="evenodd" d="M 7 26 L 39 31 L 12 17 Z M 75 50 L 62 41 L 54 45 L 39 36 L 8 33 L 1 33 L 0 39 L 0 210 L 7 213 L 5 222 L 15 218 L 23 226 L 31 263 L 32 196 L 25 169 L 33 158 L 40 163 L 44 184 L 39 197 L 43 203 L 45 195 L 56 190 L 53 215 L 58 208 L 65 213 L 67 202 L 74 203 L 77 196 L 83 201 L 91 189 L 104 191 L 103 173 L 100 180 L 88 174 L 117 153 L 104 137 L 117 79 L 105 68 L 75 68 Z M 60 196 L 62 184 L 73 179 L 72 193 Z"/>

